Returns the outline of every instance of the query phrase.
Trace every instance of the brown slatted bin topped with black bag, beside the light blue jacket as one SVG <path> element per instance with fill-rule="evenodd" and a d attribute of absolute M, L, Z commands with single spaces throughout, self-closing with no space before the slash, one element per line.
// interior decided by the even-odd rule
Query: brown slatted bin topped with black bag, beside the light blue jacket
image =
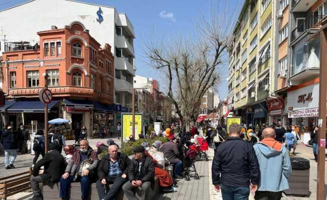
<path fill-rule="evenodd" d="M 292 173 L 288 178 L 289 188 L 286 195 L 309 195 L 310 161 L 303 157 L 292 157 Z"/>

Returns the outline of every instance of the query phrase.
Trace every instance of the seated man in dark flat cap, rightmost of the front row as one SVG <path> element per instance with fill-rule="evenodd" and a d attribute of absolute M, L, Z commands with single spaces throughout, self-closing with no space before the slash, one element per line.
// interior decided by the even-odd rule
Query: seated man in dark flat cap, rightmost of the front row
<path fill-rule="evenodd" d="M 144 192 L 144 198 L 147 197 L 147 190 L 151 187 L 151 181 L 154 178 L 154 164 L 150 157 L 145 155 L 143 146 L 136 146 L 134 149 L 135 157 L 131 160 L 128 168 L 128 179 L 122 189 L 129 200 L 137 200 L 136 190 L 139 188 Z"/>

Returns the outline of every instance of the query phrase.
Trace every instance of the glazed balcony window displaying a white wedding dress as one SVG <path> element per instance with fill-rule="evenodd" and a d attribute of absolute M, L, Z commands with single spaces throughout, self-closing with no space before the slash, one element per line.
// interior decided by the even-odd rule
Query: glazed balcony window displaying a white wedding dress
<path fill-rule="evenodd" d="M 292 47 L 292 65 L 289 81 L 297 85 L 319 76 L 320 36 L 306 35 Z"/>

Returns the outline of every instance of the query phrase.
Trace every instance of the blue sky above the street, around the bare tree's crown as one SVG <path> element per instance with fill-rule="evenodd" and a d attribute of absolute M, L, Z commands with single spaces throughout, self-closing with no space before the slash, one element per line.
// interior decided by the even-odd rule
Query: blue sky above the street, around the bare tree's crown
<path fill-rule="evenodd" d="M 0 10 L 28 0 L 0 0 Z M 79 0 L 95 4 L 114 6 L 118 12 L 125 12 L 133 23 L 136 38 L 134 40 L 136 74 L 157 79 L 160 85 L 165 80 L 159 73 L 147 65 L 143 53 L 143 41 L 146 35 L 156 33 L 157 38 L 174 39 L 176 36 L 190 34 L 199 22 L 201 14 L 209 18 L 210 6 L 214 1 L 228 4 L 236 13 L 243 0 Z M 224 67 L 223 81 L 219 87 L 220 98 L 227 97 L 226 77 L 228 67 Z"/>

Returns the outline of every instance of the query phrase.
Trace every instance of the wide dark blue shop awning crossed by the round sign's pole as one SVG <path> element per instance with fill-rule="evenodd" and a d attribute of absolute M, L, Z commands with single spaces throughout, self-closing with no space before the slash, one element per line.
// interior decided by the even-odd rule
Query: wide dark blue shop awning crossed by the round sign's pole
<path fill-rule="evenodd" d="M 58 103 L 59 100 L 52 100 L 48 104 L 48 111 Z M 15 104 L 7 109 L 7 112 L 44 112 L 44 103 L 39 100 L 17 101 Z"/>

